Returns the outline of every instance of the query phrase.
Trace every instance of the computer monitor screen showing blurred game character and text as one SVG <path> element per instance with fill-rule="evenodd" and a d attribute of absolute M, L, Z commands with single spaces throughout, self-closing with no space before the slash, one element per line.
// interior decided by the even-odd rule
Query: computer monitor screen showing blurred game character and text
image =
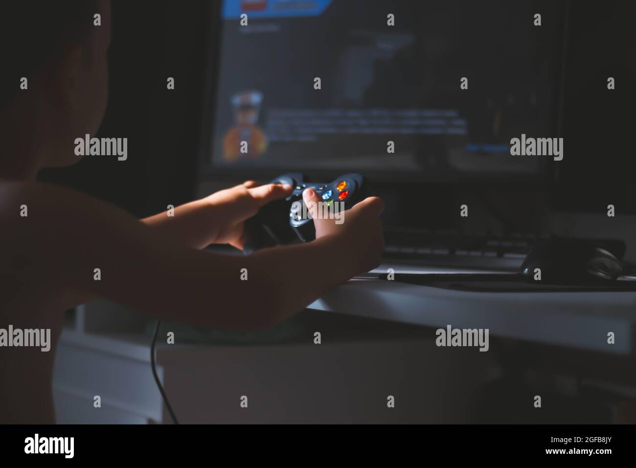
<path fill-rule="evenodd" d="M 513 156 L 510 140 L 558 136 L 563 2 L 223 0 L 219 8 L 203 177 L 552 177 L 551 157 Z"/>

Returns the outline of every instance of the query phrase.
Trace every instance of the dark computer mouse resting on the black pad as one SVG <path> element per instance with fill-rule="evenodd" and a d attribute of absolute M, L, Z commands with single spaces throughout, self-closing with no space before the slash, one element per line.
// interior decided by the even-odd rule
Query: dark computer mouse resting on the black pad
<path fill-rule="evenodd" d="M 529 281 L 554 285 L 584 285 L 614 281 L 623 264 L 612 253 L 579 239 L 552 238 L 539 241 L 523 260 L 520 273 Z"/>

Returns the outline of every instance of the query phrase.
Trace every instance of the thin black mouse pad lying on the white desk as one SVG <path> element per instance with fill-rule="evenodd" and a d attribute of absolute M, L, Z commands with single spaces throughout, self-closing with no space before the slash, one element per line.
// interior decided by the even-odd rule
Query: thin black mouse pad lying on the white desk
<path fill-rule="evenodd" d="M 379 276 L 387 280 L 387 276 Z M 607 281 L 591 285 L 529 283 L 518 274 L 396 274 L 394 281 L 432 288 L 473 292 L 617 292 L 636 291 L 636 281 Z"/>

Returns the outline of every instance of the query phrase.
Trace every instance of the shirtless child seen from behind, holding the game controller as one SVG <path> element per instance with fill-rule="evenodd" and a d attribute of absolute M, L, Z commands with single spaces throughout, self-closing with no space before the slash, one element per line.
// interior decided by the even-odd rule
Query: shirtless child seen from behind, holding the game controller
<path fill-rule="evenodd" d="M 0 422 L 54 422 L 54 350 L 67 308 L 104 298 L 160 318 L 254 329 L 379 264 L 384 205 L 377 198 L 349 209 L 342 225 L 315 220 L 314 242 L 236 257 L 200 249 L 241 248 L 244 221 L 291 187 L 247 181 L 179 206 L 174 217 L 137 220 L 36 182 L 44 167 L 77 162 L 74 140 L 99 128 L 107 104 L 109 3 L 21 0 L 0 8 L 0 328 L 52 330 L 48 353 L 0 347 Z M 22 76 L 27 89 L 20 89 Z M 313 191 L 304 196 L 319 201 Z M 23 206 L 27 216 L 20 215 Z M 247 281 L 240 280 L 242 268 Z"/>

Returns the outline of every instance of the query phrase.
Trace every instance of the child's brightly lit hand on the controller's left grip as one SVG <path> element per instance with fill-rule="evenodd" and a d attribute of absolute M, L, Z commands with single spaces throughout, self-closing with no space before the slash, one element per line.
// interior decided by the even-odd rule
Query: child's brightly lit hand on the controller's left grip
<path fill-rule="evenodd" d="M 210 195 L 205 200 L 214 206 L 214 216 L 220 226 L 214 242 L 242 249 L 245 220 L 256 215 L 261 206 L 289 197 L 291 192 L 291 185 L 259 185 L 253 180 L 248 180 L 236 187 Z"/>

